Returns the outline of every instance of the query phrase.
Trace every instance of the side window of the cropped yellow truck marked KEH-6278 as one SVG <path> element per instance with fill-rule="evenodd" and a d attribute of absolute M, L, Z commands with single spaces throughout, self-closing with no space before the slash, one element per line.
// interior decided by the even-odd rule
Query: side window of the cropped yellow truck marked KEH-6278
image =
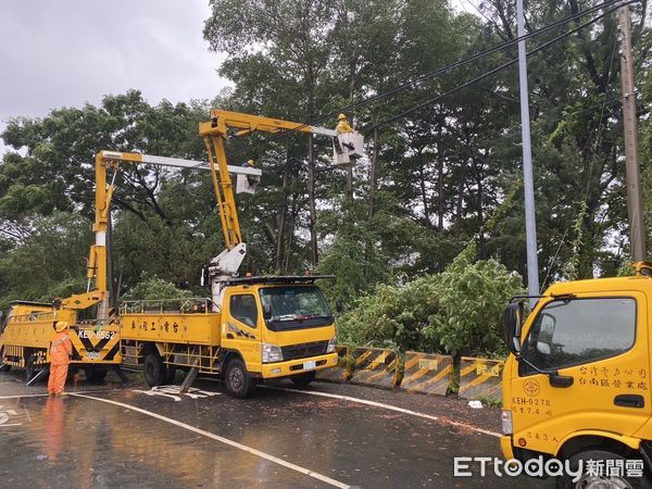
<path fill-rule="evenodd" d="M 614 356 L 636 337 L 636 301 L 630 298 L 552 301 L 539 312 L 522 355 L 542 369 Z M 523 363 L 525 373 L 532 368 Z"/>

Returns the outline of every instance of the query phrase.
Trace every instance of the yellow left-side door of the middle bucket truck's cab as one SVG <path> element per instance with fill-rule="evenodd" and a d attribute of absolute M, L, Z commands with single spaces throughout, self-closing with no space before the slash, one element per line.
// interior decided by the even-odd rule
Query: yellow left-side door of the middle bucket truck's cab
<path fill-rule="evenodd" d="M 259 304 L 253 293 L 225 297 L 222 346 L 240 352 L 250 373 L 261 372 Z"/>

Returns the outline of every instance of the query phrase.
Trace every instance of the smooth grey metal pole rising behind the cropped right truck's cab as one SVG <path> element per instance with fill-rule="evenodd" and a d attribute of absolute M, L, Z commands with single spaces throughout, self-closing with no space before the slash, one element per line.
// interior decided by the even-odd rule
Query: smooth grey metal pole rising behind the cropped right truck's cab
<path fill-rule="evenodd" d="M 518 37 L 525 36 L 523 0 L 516 0 Z M 525 189 L 525 242 L 527 250 L 527 288 L 530 296 L 539 294 L 539 260 L 537 258 L 537 218 L 535 215 L 535 184 L 532 177 L 532 143 L 529 127 L 529 91 L 525 39 L 518 41 L 518 83 L 521 91 L 521 133 L 523 137 L 523 187 Z M 536 304 L 530 300 L 530 305 Z"/>

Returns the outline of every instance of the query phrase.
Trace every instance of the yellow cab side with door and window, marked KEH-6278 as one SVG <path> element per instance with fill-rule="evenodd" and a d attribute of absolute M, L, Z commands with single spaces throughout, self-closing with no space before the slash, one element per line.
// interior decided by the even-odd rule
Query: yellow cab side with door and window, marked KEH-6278
<path fill-rule="evenodd" d="M 556 453 L 578 431 L 632 436 L 650 417 L 648 311 L 640 291 L 553 299 L 525 333 L 522 356 L 568 381 L 518 363 L 511 392 L 521 447 Z"/>

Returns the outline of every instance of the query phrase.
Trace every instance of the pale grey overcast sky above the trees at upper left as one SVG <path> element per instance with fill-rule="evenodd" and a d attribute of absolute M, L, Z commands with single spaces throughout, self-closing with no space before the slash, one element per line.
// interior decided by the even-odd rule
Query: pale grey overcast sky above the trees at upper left
<path fill-rule="evenodd" d="M 129 88 L 152 104 L 215 97 L 228 83 L 202 37 L 209 14 L 208 0 L 3 1 L 0 121 Z"/>

